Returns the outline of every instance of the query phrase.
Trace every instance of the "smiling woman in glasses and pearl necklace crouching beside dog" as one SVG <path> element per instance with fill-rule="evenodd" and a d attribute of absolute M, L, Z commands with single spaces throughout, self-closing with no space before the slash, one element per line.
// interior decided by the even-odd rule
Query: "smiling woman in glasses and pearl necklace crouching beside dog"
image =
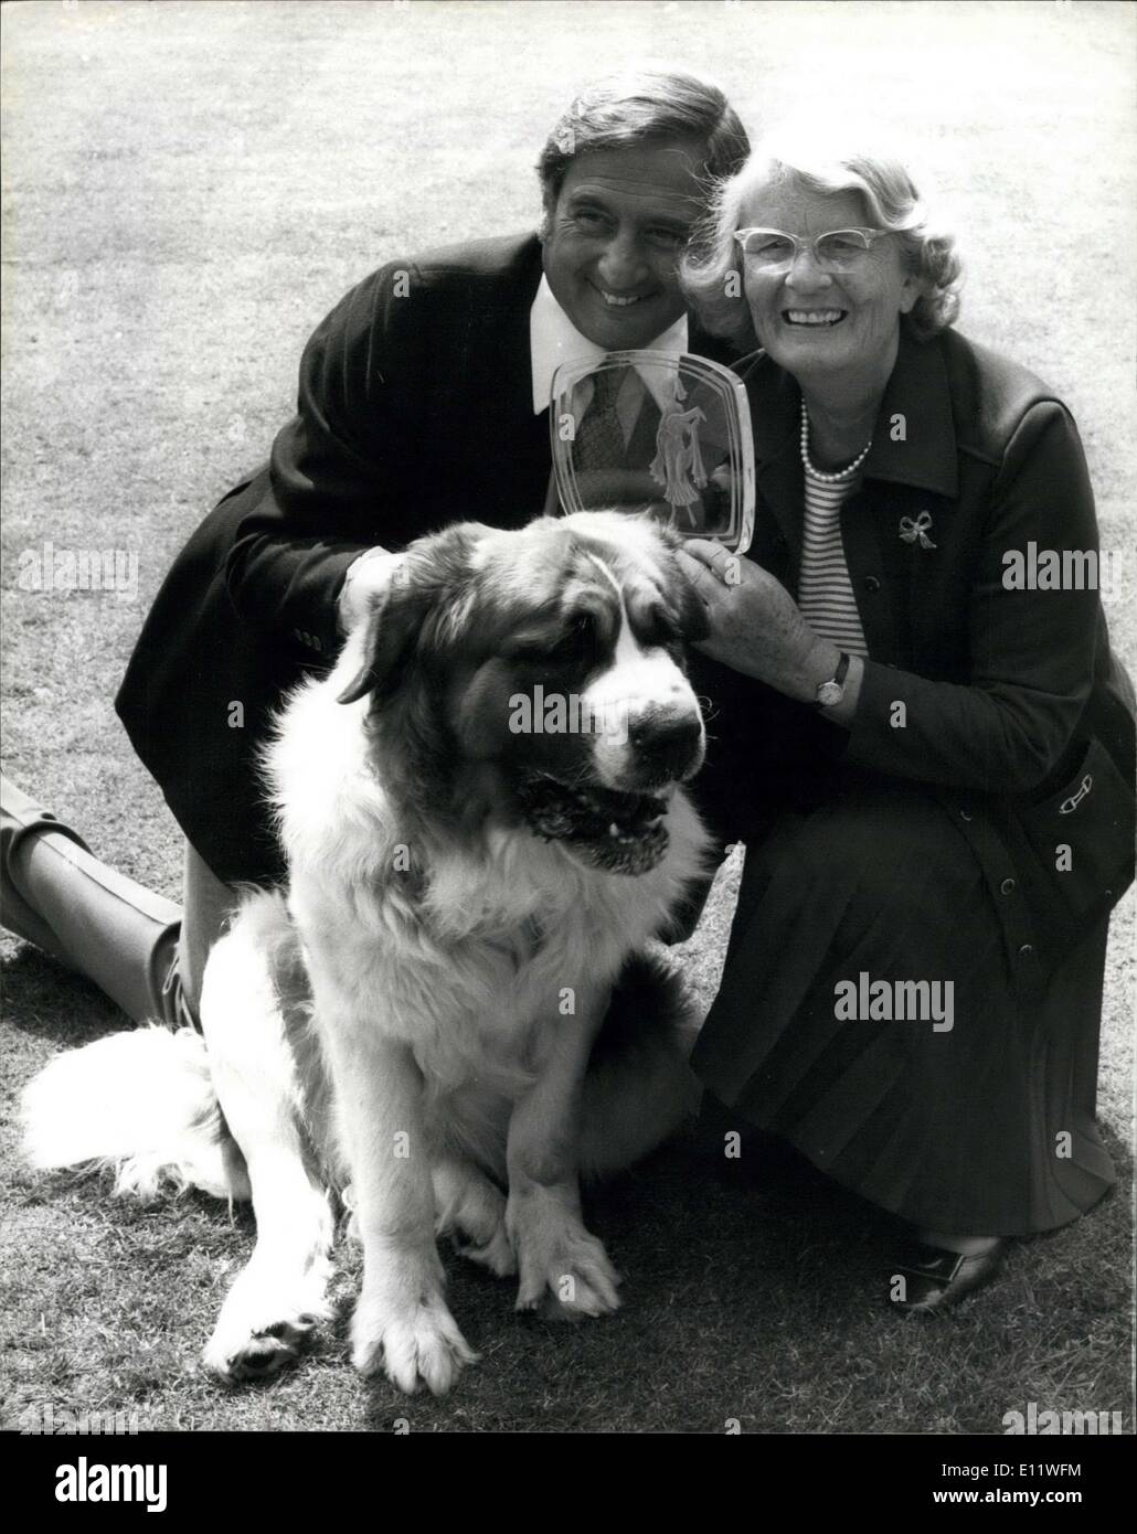
<path fill-rule="evenodd" d="M 750 557 L 684 557 L 709 805 L 747 841 L 695 1066 L 712 1123 L 786 1137 L 915 1227 L 888 1275 L 907 1310 L 1111 1186 L 1097 1034 L 1132 861 L 1132 692 L 1088 589 L 1077 431 L 951 328 L 959 273 L 899 164 L 810 152 L 727 181 L 686 262 L 703 322 L 764 348 L 738 365 Z M 1030 580 L 1043 551 L 1057 589 Z"/>

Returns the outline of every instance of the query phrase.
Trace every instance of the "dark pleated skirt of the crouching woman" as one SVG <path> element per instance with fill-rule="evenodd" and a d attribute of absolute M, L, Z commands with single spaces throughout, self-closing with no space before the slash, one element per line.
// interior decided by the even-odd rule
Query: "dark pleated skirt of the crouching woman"
<path fill-rule="evenodd" d="M 1023 976 L 951 816 L 850 788 L 747 848 L 694 1066 L 744 1123 L 918 1226 L 1027 1235 L 1114 1181 L 1094 1121 L 1108 920 Z M 838 982 L 951 980 L 953 1026 L 839 1020 Z"/>

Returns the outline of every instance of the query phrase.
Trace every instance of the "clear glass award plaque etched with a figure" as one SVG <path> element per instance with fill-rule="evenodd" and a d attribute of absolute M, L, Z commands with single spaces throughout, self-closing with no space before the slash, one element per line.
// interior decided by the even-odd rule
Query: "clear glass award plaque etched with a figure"
<path fill-rule="evenodd" d="M 744 554 L 753 439 L 743 380 L 692 353 L 606 351 L 552 376 L 549 434 L 566 512 L 651 512 Z"/>

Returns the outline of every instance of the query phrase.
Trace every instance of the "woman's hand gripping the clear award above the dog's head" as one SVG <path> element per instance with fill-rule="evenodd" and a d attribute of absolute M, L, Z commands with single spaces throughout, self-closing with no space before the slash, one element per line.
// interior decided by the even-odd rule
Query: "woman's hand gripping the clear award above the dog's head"
<path fill-rule="evenodd" d="M 787 698 L 813 703 L 841 650 L 809 627 L 786 588 L 761 565 L 704 538 L 687 540 L 678 560 L 710 624 L 710 637 L 695 647 Z"/>

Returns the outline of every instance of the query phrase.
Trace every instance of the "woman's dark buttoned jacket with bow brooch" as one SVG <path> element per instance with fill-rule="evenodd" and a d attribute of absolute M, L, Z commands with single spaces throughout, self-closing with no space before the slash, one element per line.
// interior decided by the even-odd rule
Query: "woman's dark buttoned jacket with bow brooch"
<path fill-rule="evenodd" d="M 760 354 L 740 364 L 755 428 L 750 558 L 796 594 L 801 394 Z M 1008 950 L 1046 960 L 1132 877 L 1134 707 L 1109 650 L 1099 538 L 1074 422 L 1027 370 L 944 331 L 905 328 L 841 529 L 870 660 L 849 730 L 758 683 L 703 667 L 717 739 L 706 792 L 723 833 L 761 834 L 784 798 L 842 776 L 925 784 L 974 847 Z M 1033 549 L 1031 549 L 1033 546 Z M 1043 551 L 1065 586 L 1013 589 Z M 887 827 L 882 827 L 887 834 Z"/>

